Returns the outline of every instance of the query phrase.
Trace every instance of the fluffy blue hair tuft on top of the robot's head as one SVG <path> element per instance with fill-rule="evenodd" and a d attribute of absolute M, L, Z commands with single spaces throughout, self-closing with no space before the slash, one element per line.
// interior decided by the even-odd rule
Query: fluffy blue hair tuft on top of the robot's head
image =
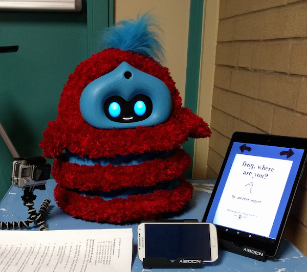
<path fill-rule="evenodd" d="M 152 57 L 156 60 L 164 59 L 157 32 L 160 29 L 153 20 L 153 16 L 145 13 L 137 20 L 123 20 L 109 27 L 103 36 L 103 43 L 107 48 L 132 51 L 136 54 Z"/>

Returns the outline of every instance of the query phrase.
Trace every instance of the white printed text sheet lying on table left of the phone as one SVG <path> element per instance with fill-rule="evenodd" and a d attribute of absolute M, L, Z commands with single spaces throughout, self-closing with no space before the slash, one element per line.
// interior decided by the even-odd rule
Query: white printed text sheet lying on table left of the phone
<path fill-rule="evenodd" d="M 132 229 L 0 231 L 0 272 L 130 272 Z"/>

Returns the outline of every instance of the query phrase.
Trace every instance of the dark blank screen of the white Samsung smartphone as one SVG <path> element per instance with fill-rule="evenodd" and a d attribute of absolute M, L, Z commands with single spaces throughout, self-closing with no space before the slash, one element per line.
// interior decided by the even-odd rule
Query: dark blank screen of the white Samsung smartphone
<path fill-rule="evenodd" d="M 145 224 L 146 258 L 211 260 L 208 224 Z"/>

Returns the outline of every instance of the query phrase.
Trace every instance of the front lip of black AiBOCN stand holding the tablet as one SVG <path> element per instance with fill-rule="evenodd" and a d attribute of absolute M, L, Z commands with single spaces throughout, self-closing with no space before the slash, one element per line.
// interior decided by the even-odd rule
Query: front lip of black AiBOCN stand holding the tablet
<path fill-rule="evenodd" d="M 218 246 L 222 250 L 230 251 L 239 255 L 243 255 L 252 259 L 256 259 L 258 261 L 265 262 L 267 260 L 266 252 L 257 250 L 256 248 L 250 246 L 237 246 L 233 242 L 218 239 Z"/>

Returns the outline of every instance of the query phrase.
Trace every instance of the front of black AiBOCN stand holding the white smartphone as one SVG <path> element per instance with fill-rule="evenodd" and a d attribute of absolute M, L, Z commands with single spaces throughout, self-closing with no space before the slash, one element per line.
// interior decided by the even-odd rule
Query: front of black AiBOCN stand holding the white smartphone
<path fill-rule="evenodd" d="M 203 260 L 200 258 L 179 258 L 169 261 L 167 258 L 144 258 L 143 268 L 202 268 Z"/>

